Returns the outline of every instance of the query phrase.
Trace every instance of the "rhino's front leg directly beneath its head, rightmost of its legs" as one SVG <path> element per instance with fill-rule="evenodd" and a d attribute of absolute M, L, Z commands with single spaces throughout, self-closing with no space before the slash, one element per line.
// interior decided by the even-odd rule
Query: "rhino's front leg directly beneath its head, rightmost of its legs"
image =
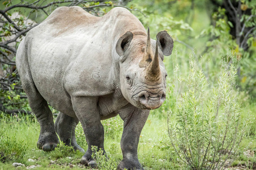
<path fill-rule="evenodd" d="M 139 136 L 149 113 L 150 111 L 138 109 L 133 105 L 119 112 L 119 116 L 124 121 L 121 139 L 123 160 L 119 163 L 117 169 L 143 169 L 138 160 L 137 150 Z"/>

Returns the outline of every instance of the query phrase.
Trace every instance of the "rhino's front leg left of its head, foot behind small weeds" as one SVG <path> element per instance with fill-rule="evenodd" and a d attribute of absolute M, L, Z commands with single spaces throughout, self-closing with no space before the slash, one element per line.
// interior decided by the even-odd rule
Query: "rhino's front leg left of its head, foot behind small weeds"
<path fill-rule="evenodd" d="M 104 150 L 104 128 L 100 120 L 100 111 L 97 106 L 98 97 L 72 97 L 73 109 L 82 124 L 88 149 L 82 156 L 81 163 L 92 168 L 96 167 L 96 161 L 92 158 L 92 146 Z"/>

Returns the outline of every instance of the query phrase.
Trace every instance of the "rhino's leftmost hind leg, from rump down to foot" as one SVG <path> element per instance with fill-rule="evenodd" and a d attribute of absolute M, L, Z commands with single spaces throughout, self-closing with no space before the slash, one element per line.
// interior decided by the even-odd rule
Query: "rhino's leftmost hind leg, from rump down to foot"
<path fill-rule="evenodd" d="M 52 151 L 57 146 L 57 143 L 59 143 L 54 129 L 52 112 L 48 107 L 47 101 L 44 100 L 35 86 L 24 45 L 24 41 L 22 41 L 17 52 L 16 65 L 22 80 L 23 90 L 28 97 L 28 103 L 40 125 L 37 146 L 44 151 Z"/>

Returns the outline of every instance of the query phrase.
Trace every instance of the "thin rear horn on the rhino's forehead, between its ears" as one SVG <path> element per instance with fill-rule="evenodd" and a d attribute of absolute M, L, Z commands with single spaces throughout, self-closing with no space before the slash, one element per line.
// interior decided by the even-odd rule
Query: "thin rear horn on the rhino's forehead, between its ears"
<path fill-rule="evenodd" d="M 144 52 L 143 58 L 141 62 L 139 62 L 139 67 L 146 67 L 152 61 L 152 50 L 151 50 L 151 41 L 150 41 L 150 29 L 147 28 L 147 44 L 146 44 L 146 51 Z"/>

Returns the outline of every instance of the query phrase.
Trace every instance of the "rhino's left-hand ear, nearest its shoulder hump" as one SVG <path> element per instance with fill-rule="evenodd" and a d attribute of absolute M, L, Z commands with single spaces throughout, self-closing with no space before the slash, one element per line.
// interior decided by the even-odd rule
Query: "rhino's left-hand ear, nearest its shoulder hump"
<path fill-rule="evenodd" d="M 117 51 L 117 54 L 119 56 L 123 56 L 125 53 L 125 50 L 130 45 L 131 40 L 133 40 L 133 33 L 130 31 L 127 31 L 125 35 L 119 38 L 117 41 L 117 45 L 115 46 L 115 50 Z"/>

